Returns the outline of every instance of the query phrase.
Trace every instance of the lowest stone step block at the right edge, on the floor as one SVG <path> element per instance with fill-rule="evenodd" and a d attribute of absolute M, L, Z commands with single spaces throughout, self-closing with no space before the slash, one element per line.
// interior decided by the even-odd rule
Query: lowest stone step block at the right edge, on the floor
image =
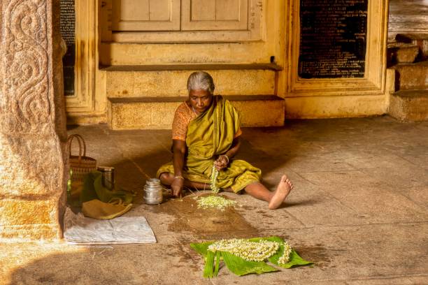
<path fill-rule="evenodd" d="M 428 89 L 395 92 L 391 95 L 389 113 L 402 121 L 428 120 Z"/>

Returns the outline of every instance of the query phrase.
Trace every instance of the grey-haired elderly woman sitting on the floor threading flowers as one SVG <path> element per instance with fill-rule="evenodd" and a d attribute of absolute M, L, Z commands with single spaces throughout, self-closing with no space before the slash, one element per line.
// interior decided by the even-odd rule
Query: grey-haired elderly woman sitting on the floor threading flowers
<path fill-rule="evenodd" d="M 161 166 L 157 177 L 179 196 L 183 187 L 209 189 L 214 165 L 219 170 L 217 187 L 235 193 L 244 190 L 268 202 L 269 209 L 278 208 L 292 183 L 283 175 L 276 191 L 269 191 L 260 183 L 261 170 L 233 159 L 241 146 L 239 116 L 229 101 L 213 96 L 211 75 L 192 73 L 187 89 L 189 98 L 178 106 L 173 119 L 173 161 Z"/>

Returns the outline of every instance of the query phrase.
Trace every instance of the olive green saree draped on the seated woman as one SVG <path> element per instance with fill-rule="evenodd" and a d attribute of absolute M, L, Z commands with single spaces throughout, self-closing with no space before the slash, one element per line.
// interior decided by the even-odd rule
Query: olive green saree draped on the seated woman
<path fill-rule="evenodd" d="M 222 96 L 213 96 L 211 107 L 187 126 L 187 155 L 183 168 L 183 177 L 193 182 L 210 183 L 213 163 L 218 155 L 231 147 L 240 120 L 238 112 Z M 157 170 L 162 173 L 174 173 L 173 163 L 166 163 Z M 252 182 L 259 182 L 262 171 L 250 163 L 231 159 L 227 168 L 220 170 L 217 187 L 231 187 L 238 192 Z"/>

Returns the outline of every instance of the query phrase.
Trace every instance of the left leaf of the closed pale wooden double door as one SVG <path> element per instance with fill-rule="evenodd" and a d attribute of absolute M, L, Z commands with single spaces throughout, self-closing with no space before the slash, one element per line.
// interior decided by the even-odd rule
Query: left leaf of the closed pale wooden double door
<path fill-rule="evenodd" d="M 113 0 L 113 31 L 178 31 L 180 0 Z"/>

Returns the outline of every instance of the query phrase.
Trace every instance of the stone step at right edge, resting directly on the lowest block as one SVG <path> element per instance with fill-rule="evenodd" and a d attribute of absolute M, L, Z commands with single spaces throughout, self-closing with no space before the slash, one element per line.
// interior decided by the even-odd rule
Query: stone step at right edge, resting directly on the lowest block
<path fill-rule="evenodd" d="M 428 61 L 415 64 L 397 64 L 398 90 L 428 89 Z"/>

